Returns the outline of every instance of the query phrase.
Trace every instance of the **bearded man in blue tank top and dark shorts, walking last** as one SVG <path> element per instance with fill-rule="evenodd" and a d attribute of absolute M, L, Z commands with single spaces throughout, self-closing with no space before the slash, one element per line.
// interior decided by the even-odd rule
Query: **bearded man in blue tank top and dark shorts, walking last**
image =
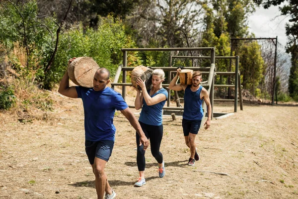
<path fill-rule="evenodd" d="M 169 89 L 174 91 L 184 91 L 184 111 L 182 119 L 183 134 L 186 145 L 190 148 L 190 158 L 188 165 L 194 166 L 195 160 L 200 160 L 200 156 L 197 153 L 195 144 L 196 135 L 199 132 L 201 121 L 204 118 L 202 102 L 205 101 L 207 105 L 208 119 L 204 123 L 205 129 L 210 127 L 211 121 L 211 103 L 209 99 L 208 91 L 200 86 L 202 82 L 202 74 L 196 71 L 192 75 L 192 85 L 180 85 L 176 84 L 179 71 L 177 70 L 176 76 L 172 79 Z"/>

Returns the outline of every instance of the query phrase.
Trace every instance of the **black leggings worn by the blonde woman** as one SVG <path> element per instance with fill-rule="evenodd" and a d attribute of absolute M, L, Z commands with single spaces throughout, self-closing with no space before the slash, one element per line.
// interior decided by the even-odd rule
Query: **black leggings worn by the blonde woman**
<path fill-rule="evenodd" d="M 140 121 L 139 121 L 140 122 Z M 140 122 L 140 125 L 147 137 L 147 139 L 150 140 L 150 148 L 151 148 L 151 154 L 155 158 L 155 160 L 161 164 L 162 163 L 162 154 L 159 151 L 162 134 L 163 134 L 163 126 L 162 124 L 160 126 L 153 126 L 148 125 Z M 140 145 L 140 136 L 138 133 L 136 133 L 137 138 L 137 164 L 139 171 L 145 171 L 145 151 L 144 151 L 144 145 Z"/>

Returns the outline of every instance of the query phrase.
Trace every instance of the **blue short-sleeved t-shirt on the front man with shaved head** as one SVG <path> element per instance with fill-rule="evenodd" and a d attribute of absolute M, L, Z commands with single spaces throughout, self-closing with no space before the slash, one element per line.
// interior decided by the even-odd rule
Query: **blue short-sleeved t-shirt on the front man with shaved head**
<path fill-rule="evenodd" d="M 115 141 L 116 128 L 113 124 L 115 110 L 128 107 L 122 96 L 111 89 L 94 91 L 93 88 L 76 86 L 77 97 L 84 107 L 85 139 L 89 141 Z"/>

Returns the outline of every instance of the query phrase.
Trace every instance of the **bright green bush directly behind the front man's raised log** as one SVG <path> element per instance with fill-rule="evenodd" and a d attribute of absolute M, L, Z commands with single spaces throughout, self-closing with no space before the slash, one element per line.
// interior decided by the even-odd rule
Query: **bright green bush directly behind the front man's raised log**
<path fill-rule="evenodd" d="M 125 34 L 124 25 L 111 17 L 102 18 L 96 30 L 73 25 L 62 32 L 59 48 L 51 69 L 44 74 L 43 87 L 51 89 L 61 80 L 67 70 L 68 60 L 73 57 L 92 57 L 99 67 L 105 67 L 112 77 L 122 63 L 121 48 L 134 48 L 135 42 Z M 130 62 L 140 63 L 135 54 L 128 56 Z M 42 73 L 40 74 L 42 77 Z"/>

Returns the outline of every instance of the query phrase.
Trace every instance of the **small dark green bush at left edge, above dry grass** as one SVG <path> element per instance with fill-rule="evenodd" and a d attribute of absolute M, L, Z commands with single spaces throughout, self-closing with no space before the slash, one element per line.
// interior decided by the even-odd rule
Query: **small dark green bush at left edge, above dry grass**
<path fill-rule="evenodd" d="M 14 92 L 11 88 L 0 87 L 0 109 L 8 110 L 15 102 Z"/>

